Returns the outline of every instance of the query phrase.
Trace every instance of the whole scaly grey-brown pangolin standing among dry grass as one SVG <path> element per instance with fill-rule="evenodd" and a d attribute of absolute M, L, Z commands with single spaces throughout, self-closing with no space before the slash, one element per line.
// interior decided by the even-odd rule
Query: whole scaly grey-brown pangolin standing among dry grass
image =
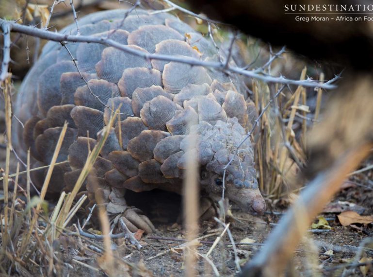
<path fill-rule="evenodd" d="M 61 32 L 76 34 L 75 26 Z M 142 52 L 225 59 L 210 40 L 167 13 L 97 12 L 83 17 L 79 26 L 81 35 L 109 37 Z M 89 150 L 119 108 L 120 119 L 94 165 L 97 184 L 88 178 L 81 188 L 90 200 L 87 207 L 94 205 L 99 190 L 108 213 L 124 213 L 130 229 L 154 231 L 137 210 L 126 214 L 125 190 L 181 193 L 186 156 L 191 154 L 199 163 L 200 190 L 215 200 L 221 198 L 224 167 L 233 158 L 225 174 L 225 196 L 260 214 L 265 202 L 258 188 L 253 143 L 246 139 L 237 151 L 256 110 L 239 87 L 233 77 L 201 66 L 147 60 L 102 44 L 48 42 L 17 96 L 15 115 L 24 127 L 14 121 L 14 145 L 23 157 L 30 149 L 33 168 L 47 165 L 67 121 L 57 159 L 63 163 L 53 170 L 49 195 L 71 191 Z M 197 139 L 189 149 L 191 132 Z M 46 171 L 32 172 L 37 187 Z"/>

